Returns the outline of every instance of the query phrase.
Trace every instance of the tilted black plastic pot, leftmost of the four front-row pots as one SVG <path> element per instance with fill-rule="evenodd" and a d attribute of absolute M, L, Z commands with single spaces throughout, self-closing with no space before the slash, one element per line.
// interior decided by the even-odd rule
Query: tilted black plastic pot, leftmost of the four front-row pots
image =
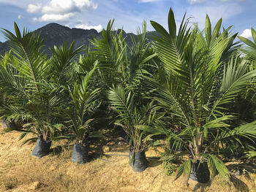
<path fill-rule="evenodd" d="M 32 155 L 36 156 L 37 158 L 42 158 L 49 153 L 50 145 L 50 140 L 37 139 L 37 144 L 32 151 Z"/>

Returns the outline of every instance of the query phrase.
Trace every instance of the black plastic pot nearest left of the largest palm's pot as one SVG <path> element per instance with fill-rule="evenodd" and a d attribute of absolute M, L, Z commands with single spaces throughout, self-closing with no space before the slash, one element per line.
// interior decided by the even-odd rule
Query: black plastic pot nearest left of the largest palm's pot
<path fill-rule="evenodd" d="M 145 150 L 135 153 L 134 162 L 132 162 L 132 150 L 129 150 L 129 166 L 134 172 L 143 172 L 147 167 Z"/>

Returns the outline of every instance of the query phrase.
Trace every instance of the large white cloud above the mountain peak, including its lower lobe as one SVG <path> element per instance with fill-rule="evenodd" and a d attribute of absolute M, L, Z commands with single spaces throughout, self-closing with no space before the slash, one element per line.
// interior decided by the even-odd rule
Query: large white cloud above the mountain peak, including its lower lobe
<path fill-rule="evenodd" d="M 35 22 L 67 21 L 83 9 L 97 9 L 97 4 L 94 4 L 94 0 L 50 0 L 45 6 L 29 4 L 27 12 L 43 14 L 39 18 L 33 18 Z"/>

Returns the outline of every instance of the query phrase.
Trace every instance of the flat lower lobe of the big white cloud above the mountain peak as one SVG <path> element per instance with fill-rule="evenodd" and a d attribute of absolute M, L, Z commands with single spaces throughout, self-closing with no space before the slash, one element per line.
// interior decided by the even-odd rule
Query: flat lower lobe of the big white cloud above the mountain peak
<path fill-rule="evenodd" d="M 35 22 L 68 21 L 75 15 L 73 12 L 66 14 L 44 14 L 40 18 L 33 18 Z"/>

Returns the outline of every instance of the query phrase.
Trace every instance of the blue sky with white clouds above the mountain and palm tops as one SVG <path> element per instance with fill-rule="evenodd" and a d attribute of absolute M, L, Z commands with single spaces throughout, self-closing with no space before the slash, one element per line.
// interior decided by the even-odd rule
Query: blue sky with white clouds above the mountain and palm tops
<path fill-rule="evenodd" d="M 206 13 L 212 23 L 223 18 L 223 26 L 233 25 L 233 31 L 250 37 L 256 28 L 255 0 L 0 0 L 0 28 L 13 31 L 13 22 L 31 31 L 47 23 L 60 23 L 69 28 L 95 28 L 102 31 L 108 20 L 115 19 L 116 28 L 136 32 L 143 20 L 148 31 L 149 20 L 167 26 L 167 14 L 172 7 L 179 24 L 185 12 L 191 23 L 203 28 Z M 4 37 L 0 34 L 0 41 Z"/>

